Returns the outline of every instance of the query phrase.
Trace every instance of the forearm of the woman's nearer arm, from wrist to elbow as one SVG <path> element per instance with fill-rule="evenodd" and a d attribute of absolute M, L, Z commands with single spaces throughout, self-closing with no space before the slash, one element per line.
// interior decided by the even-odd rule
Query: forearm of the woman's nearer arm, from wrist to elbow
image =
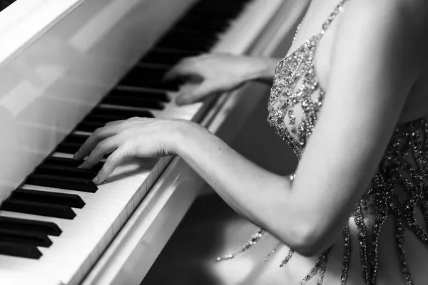
<path fill-rule="evenodd" d="M 293 244 L 298 234 L 291 229 L 295 214 L 289 180 L 245 159 L 201 127 L 182 133 L 176 144 L 177 155 L 230 207 L 283 242 Z"/>

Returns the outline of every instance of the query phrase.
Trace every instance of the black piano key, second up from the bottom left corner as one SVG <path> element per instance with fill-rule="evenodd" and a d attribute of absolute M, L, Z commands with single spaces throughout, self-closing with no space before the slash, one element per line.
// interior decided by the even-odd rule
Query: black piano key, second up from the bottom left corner
<path fill-rule="evenodd" d="M 51 239 L 46 234 L 16 229 L 0 229 L 0 242 L 14 242 L 36 247 L 50 247 L 52 245 Z"/>

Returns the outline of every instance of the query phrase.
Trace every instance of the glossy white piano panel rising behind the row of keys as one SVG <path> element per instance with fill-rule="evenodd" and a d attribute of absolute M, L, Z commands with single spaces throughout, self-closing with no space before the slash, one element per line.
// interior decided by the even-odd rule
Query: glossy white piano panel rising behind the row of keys
<path fill-rule="evenodd" d="M 0 201 L 193 2 L 20 0 L 0 13 Z"/>

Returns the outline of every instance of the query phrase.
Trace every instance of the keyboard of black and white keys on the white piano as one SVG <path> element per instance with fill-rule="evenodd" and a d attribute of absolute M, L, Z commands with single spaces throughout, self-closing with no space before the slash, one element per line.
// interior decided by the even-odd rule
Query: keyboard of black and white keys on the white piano
<path fill-rule="evenodd" d="M 1 284 L 9 284 L 3 271 L 17 269 L 36 279 L 54 274 L 62 284 L 83 279 L 170 159 L 128 160 L 96 186 L 91 179 L 102 162 L 92 170 L 77 169 L 81 162 L 72 160 L 73 153 L 111 120 L 200 120 L 208 104 L 175 106 L 166 93 L 180 82 L 163 82 L 165 72 L 181 58 L 215 51 L 241 14 L 254 15 L 267 3 L 273 13 L 280 1 L 199 1 L 36 167 L 0 207 Z"/>

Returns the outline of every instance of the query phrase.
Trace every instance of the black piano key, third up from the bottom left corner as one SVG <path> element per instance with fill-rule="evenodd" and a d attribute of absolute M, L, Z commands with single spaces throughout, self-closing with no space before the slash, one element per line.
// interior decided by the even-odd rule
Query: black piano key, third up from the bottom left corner
<path fill-rule="evenodd" d="M 18 219 L 11 217 L 0 217 L 0 229 L 16 229 L 27 232 L 43 232 L 58 237 L 61 229 L 53 222 L 35 221 L 32 219 Z"/>

